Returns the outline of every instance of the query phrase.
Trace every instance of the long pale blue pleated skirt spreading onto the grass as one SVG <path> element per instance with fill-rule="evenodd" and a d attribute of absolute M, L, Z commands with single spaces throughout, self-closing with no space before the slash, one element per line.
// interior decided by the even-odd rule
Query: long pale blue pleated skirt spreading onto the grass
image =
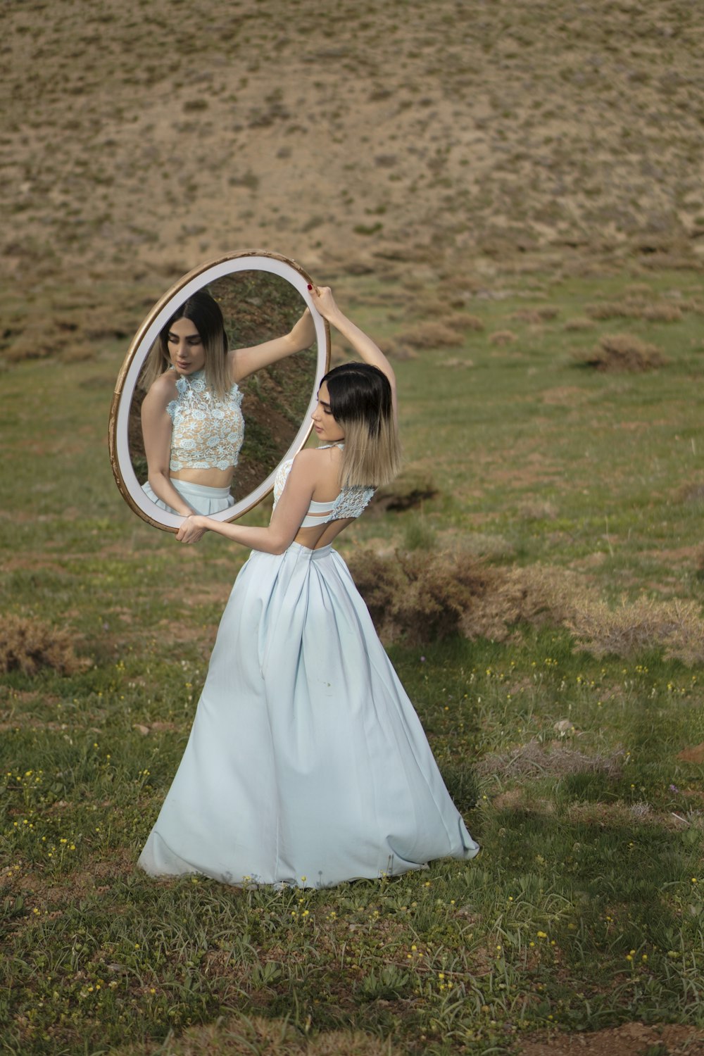
<path fill-rule="evenodd" d="M 252 553 L 139 865 L 327 887 L 478 849 L 342 558 Z"/>

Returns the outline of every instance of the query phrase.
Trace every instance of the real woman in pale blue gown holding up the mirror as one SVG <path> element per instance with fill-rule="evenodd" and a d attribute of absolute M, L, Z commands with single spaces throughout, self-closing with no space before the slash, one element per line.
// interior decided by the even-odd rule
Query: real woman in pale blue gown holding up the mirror
<path fill-rule="evenodd" d="M 268 528 L 189 516 L 249 546 L 184 758 L 139 857 L 153 875 L 327 887 L 473 857 L 420 721 L 331 543 L 399 461 L 394 373 L 329 289 L 320 313 L 361 356 L 330 371 L 321 447 L 284 467 Z"/>

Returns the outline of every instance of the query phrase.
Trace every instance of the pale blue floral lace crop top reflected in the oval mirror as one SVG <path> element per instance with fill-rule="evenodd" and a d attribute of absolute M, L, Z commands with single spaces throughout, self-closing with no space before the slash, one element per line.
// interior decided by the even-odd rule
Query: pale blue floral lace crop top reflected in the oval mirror
<path fill-rule="evenodd" d="M 205 370 L 176 381 L 178 395 L 167 407 L 171 417 L 169 468 L 230 469 L 237 465 L 245 438 L 242 393 L 236 384 L 225 399 L 206 385 Z"/>

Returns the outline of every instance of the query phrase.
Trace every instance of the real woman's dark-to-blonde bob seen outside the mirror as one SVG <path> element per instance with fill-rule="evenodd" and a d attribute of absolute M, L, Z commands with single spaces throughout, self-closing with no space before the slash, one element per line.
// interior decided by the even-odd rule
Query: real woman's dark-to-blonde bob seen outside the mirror
<path fill-rule="evenodd" d="M 342 363 L 321 379 L 327 384 L 330 412 L 344 433 L 340 464 L 342 488 L 388 484 L 401 467 L 392 386 L 369 363 Z"/>

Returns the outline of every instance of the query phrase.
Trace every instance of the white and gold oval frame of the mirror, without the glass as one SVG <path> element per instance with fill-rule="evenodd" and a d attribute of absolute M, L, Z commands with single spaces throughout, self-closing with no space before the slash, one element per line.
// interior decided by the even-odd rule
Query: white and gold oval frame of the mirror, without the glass
<path fill-rule="evenodd" d="M 142 491 L 132 465 L 129 444 L 130 409 L 139 376 L 149 352 L 176 309 L 196 290 L 237 271 L 265 271 L 285 279 L 301 295 L 310 309 L 316 326 L 317 362 L 307 410 L 299 430 L 274 469 L 256 487 L 221 513 L 212 514 L 216 521 L 235 521 L 262 501 L 273 488 L 281 464 L 301 450 L 312 429 L 310 415 L 317 402 L 320 379 L 327 372 L 330 359 L 330 333 L 327 322 L 313 306 L 308 285 L 308 275 L 294 262 L 278 253 L 262 249 L 230 253 L 189 271 L 154 305 L 135 334 L 120 369 L 110 410 L 109 446 L 115 482 L 128 506 L 142 520 L 156 528 L 175 532 L 184 518 L 156 506 Z"/>

